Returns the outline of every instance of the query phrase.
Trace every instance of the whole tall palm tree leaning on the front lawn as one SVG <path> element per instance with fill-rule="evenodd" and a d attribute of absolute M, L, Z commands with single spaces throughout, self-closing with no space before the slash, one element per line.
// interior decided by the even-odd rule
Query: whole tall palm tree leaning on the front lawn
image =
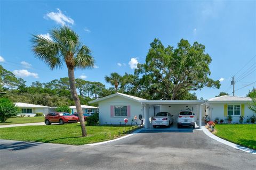
<path fill-rule="evenodd" d="M 71 95 L 78 112 L 82 136 L 85 137 L 87 132 L 83 110 L 76 91 L 74 70 L 93 67 L 94 60 L 91 56 L 91 51 L 81 44 L 77 33 L 67 26 L 52 29 L 50 35 L 52 40 L 43 36 L 33 35 L 33 38 L 31 38 L 32 50 L 35 56 L 46 63 L 51 70 L 62 68 L 63 64 L 66 64 Z"/>

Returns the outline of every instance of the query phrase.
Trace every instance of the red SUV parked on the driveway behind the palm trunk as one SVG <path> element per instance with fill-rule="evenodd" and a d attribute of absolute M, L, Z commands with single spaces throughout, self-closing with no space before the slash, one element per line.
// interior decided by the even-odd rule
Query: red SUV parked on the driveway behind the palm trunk
<path fill-rule="evenodd" d="M 53 112 L 49 113 L 44 117 L 44 122 L 46 125 L 50 125 L 51 123 L 77 123 L 78 118 L 76 116 L 73 116 L 69 113 L 58 113 Z"/>

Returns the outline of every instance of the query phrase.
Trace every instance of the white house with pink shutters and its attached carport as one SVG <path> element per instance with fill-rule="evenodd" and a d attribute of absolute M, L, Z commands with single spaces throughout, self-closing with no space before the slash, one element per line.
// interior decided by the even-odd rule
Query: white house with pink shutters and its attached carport
<path fill-rule="evenodd" d="M 177 122 L 181 110 L 190 110 L 195 114 L 199 128 L 202 124 L 202 115 L 205 114 L 205 101 L 203 100 L 146 100 L 117 92 L 116 94 L 90 101 L 99 105 L 100 124 L 124 124 L 124 118 L 131 123 L 137 116 L 137 123 L 141 120 L 145 128 L 150 128 L 151 117 L 158 112 L 170 112 Z"/>

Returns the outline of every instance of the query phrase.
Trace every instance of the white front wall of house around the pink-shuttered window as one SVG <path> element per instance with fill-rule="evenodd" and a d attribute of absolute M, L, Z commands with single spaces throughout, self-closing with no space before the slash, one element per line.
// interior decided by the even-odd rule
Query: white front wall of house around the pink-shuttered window
<path fill-rule="evenodd" d="M 131 106 L 131 116 L 130 117 L 111 117 L 110 106 Z M 136 115 L 138 117 L 137 123 L 140 124 L 139 115 L 143 114 L 142 105 L 137 101 L 131 99 L 126 99 L 124 97 L 111 97 L 106 100 L 99 101 L 99 122 L 103 124 L 124 124 L 124 118 L 128 119 L 128 124 L 131 124 L 132 118 Z"/>

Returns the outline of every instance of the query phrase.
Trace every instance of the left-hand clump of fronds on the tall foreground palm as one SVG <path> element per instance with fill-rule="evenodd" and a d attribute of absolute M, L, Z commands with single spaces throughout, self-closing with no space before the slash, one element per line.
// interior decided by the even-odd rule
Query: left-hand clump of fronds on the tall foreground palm
<path fill-rule="evenodd" d="M 57 43 L 39 35 L 33 35 L 31 43 L 35 56 L 44 61 L 50 69 L 62 67 L 62 60 Z"/>

